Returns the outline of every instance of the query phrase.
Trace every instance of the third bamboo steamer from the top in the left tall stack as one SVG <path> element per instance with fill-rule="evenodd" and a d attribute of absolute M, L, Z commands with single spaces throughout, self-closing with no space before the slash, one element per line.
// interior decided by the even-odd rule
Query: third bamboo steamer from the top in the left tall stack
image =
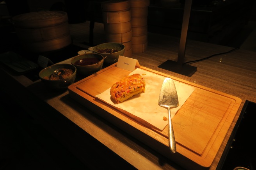
<path fill-rule="evenodd" d="M 110 23 L 103 23 L 103 24 L 104 24 L 104 31 L 109 34 L 126 33 L 132 30 L 131 21 L 128 21 L 125 23 L 116 23 L 116 24 L 110 24 Z"/>

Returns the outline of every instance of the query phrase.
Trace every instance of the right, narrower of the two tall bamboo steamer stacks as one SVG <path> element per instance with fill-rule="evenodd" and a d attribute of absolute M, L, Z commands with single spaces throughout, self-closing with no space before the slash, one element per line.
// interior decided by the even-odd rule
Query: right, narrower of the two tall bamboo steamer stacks
<path fill-rule="evenodd" d="M 130 0 L 132 15 L 132 51 L 143 53 L 148 47 L 148 6 L 150 0 Z"/>

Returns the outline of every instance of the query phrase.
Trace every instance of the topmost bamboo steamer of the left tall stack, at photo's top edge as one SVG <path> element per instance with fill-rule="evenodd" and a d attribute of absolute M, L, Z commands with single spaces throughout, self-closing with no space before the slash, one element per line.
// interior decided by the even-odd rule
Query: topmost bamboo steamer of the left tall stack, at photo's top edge
<path fill-rule="evenodd" d="M 101 9 L 103 12 L 127 11 L 130 9 L 130 7 L 130 0 L 108 0 L 101 2 Z"/>

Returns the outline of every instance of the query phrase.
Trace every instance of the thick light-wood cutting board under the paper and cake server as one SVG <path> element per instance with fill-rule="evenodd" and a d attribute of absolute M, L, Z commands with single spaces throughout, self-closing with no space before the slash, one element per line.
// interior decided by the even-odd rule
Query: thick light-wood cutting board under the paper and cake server
<path fill-rule="evenodd" d="M 172 118 L 177 149 L 175 154 L 169 150 L 168 126 L 163 131 L 147 127 L 133 119 L 131 114 L 117 110 L 95 97 L 131 73 L 117 68 L 116 63 L 70 85 L 69 95 L 181 166 L 187 169 L 209 168 L 242 100 L 146 67 L 140 69 L 196 88 Z"/>

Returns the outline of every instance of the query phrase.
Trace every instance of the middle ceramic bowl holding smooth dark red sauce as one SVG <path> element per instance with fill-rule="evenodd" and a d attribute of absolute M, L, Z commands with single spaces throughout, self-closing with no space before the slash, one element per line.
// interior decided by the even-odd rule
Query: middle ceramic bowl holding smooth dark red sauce
<path fill-rule="evenodd" d="M 86 53 L 73 57 L 71 64 L 76 67 L 78 74 L 90 75 L 102 68 L 104 60 L 100 54 Z"/>

